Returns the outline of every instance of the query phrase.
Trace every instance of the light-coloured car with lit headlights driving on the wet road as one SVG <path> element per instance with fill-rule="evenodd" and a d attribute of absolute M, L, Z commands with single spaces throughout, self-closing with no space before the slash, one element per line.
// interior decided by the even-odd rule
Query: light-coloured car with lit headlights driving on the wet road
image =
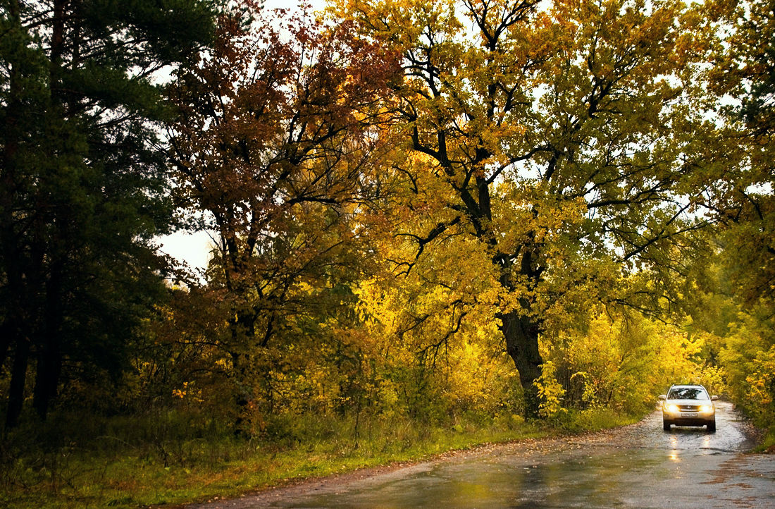
<path fill-rule="evenodd" d="M 662 403 L 662 428 L 670 426 L 706 426 L 716 431 L 716 406 L 718 396 L 710 396 L 700 385 L 673 385 L 667 394 L 660 396 Z"/>

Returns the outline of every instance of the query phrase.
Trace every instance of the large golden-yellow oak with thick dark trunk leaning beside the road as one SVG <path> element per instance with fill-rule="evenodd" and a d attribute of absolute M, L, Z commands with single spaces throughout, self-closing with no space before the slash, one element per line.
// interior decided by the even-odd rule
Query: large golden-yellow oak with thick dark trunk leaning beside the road
<path fill-rule="evenodd" d="M 715 130 L 698 66 L 712 31 L 673 1 L 337 5 L 365 40 L 400 50 L 392 136 L 427 169 L 390 169 L 415 191 L 410 208 L 426 200 L 422 179 L 443 201 L 402 234 L 415 249 L 398 271 L 450 236 L 487 251 L 536 414 L 539 334 L 597 300 L 647 313 L 675 302 L 677 260 L 708 223 L 692 213 L 718 178 L 701 155 Z"/>

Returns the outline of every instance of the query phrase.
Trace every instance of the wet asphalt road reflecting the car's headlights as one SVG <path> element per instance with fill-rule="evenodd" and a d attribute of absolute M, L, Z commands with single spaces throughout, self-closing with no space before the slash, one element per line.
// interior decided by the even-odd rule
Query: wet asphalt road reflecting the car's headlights
<path fill-rule="evenodd" d="M 315 480 L 198 507 L 775 507 L 775 455 L 718 403 L 718 431 L 615 431 L 497 445 L 384 472 Z"/>

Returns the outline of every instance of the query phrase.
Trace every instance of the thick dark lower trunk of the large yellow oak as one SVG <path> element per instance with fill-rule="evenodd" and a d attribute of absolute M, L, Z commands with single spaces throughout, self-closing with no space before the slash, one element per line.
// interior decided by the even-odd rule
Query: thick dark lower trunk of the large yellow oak
<path fill-rule="evenodd" d="M 525 393 L 525 416 L 538 416 L 538 390 L 533 382 L 541 375 L 541 354 L 538 349 L 540 325 L 518 311 L 501 313 L 501 332 L 506 341 L 506 351 L 514 360 L 519 381 Z"/>

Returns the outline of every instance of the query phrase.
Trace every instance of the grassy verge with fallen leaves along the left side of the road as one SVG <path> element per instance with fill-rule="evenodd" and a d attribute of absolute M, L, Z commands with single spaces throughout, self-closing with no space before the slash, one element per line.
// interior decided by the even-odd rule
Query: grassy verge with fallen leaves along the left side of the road
<path fill-rule="evenodd" d="M 521 417 L 456 418 L 445 424 L 299 417 L 270 438 L 246 439 L 174 413 L 138 421 L 25 428 L 0 450 L 0 506 L 139 507 L 236 497 L 308 477 L 428 459 L 455 449 L 637 421 L 577 413 L 540 426 Z M 77 426 L 77 430 L 73 427 Z M 67 438 L 65 438 L 67 437 Z"/>

